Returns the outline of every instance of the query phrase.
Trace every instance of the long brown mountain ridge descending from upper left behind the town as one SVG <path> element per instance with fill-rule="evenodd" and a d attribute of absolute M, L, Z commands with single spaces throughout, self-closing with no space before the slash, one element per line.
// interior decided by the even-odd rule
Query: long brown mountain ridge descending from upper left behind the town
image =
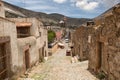
<path fill-rule="evenodd" d="M 71 18 L 67 17 L 62 14 L 58 13 L 52 13 L 52 14 L 46 14 L 43 12 L 35 12 L 31 10 L 27 10 L 21 7 L 18 7 L 16 5 L 4 2 L 4 7 L 5 7 L 5 14 L 7 18 L 17 18 L 17 17 L 36 17 L 41 19 L 44 24 L 46 23 L 53 23 L 53 24 L 58 24 L 63 17 L 67 18 L 66 25 L 67 26 L 79 26 L 91 19 L 88 18 Z"/>

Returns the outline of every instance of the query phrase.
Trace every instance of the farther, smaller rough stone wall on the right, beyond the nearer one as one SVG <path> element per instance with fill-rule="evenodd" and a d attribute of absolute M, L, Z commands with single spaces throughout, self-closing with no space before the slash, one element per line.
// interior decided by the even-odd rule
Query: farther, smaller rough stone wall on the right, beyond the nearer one
<path fill-rule="evenodd" d="M 74 45 L 72 53 L 74 56 L 78 56 L 81 61 L 88 60 L 91 29 L 90 26 L 81 26 L 72 34 Z"/>

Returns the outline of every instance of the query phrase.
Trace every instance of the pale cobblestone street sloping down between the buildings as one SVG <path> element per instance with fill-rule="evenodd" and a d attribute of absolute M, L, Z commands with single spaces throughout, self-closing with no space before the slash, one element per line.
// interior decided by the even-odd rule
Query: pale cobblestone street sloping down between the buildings
<path fill-rule="evenodd" d="M 88 61 L 71 63 L 66 49 L 59 49 L 48 61 L 33 67 L 29 78 L 20 80 L 98 80 L 88 70 Z"/>

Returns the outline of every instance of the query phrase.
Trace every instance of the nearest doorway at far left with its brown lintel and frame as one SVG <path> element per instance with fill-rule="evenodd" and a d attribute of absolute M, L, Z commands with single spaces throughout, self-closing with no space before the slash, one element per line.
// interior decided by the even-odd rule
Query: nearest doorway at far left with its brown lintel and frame
<path fill-rule="evenodd" d="M 9 38 L 0 37 L 0 80 L 9 77 L 10 71 L 10 45 Z"/>

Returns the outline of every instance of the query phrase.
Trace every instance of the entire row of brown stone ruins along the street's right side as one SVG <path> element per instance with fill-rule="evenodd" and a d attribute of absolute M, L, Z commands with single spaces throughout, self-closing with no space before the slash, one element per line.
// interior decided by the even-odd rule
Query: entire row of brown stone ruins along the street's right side
<path fill-rule="evenodd" d="M 87 47 L 89 70 L 105 80 L 120 80 L 120 5 L 94 19 L 94 23 L 87 30 L 80 27 L 74 32 L 73 53 L 82 57 Z"/>

